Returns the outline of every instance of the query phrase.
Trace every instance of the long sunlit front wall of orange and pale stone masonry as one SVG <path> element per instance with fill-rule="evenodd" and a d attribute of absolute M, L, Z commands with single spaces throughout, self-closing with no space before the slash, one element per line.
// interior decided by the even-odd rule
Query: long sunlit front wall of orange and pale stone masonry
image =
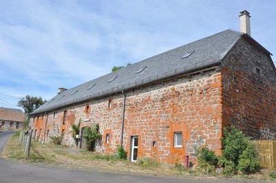
<path fill-rule="evenodd" d="M 123 145 L 128 158 L 132 136 L 139 138 L 138 158 L 150 157 L 169 164 L 184 163 L 184 155 L 190 155 L 194 161 L 195 148 L 205 144 L 220 153 L 221 98 L 221 74 L 215 69 L 126 92 Z M 46 131 L 45 142 L 49 142 L 49 136 L 60 136 L 63 131 L 63 144 L 74 146 L 70 134 L 72 123 L 81 122 L 81 127 L 99 123 L 102 140 L 96 151 L 116 153 L 121 139 L 122 106 L 123 96 L 116 94 L 56 111 L 55 119 L 51 112 L 47 125 L 46 116 L 42 119 L 40 115 L 38 120 L 35 116 L 30 123 L 32 134 L 37 129 L 36 138 L 43 141 Z M 67 120 L 62 125 L 65 110 Z M 183 133 L 182 147 L 174 147 L 175 132 Z M 106 143 L 107 133 L 109 143 Z"/>

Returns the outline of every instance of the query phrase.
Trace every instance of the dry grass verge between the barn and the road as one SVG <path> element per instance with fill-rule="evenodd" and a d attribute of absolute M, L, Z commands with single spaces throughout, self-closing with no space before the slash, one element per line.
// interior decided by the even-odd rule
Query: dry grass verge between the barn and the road
<path fill-rule="evenodd" d="M 127 160 L 120 160 L 116 155 L 103 155 L 90 151 L 78 150 L 63 147 L 55 144 L 41 144 L 33 142 L 30 149 L 30 157 L 24 155 L 19 142 L 19 132 L 14 133 L 3 149 L 3 158 L 28 162 L 33 164 L 45 164 L 49 166 L 63 166 L 72 169 L 84 169 L 90 171 L 108 171 L 112 173 L 138 173 L 143 175 L 156 175 L 164 177 L 188 177 L 202 178 L 207 175 L 195 170 L 187 170 L 181 164 L 175 166 L 164 166 L 150 158 L 143 158 L 137 163 Z M 235 175 L 235 178 L 250 178 L 255 180 L 275 181 L 275 173 L 268 171 L 242 177 Z M 212 180 L 221 178 L 221 175 L 210 176 Z"/>

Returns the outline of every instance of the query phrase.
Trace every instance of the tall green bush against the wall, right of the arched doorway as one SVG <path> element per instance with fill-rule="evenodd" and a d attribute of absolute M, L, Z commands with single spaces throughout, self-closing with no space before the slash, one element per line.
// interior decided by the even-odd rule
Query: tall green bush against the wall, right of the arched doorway
<path fill-rule="evenodd" d="M 84 136 L 86 139 L 86 147 L 89 151 L 94 151 L 97 140 L 101 139 L 101 133 L 99 133 L 99 124 L 91 130 L 90 127 L 86 127 L 84 130 Z"/>

